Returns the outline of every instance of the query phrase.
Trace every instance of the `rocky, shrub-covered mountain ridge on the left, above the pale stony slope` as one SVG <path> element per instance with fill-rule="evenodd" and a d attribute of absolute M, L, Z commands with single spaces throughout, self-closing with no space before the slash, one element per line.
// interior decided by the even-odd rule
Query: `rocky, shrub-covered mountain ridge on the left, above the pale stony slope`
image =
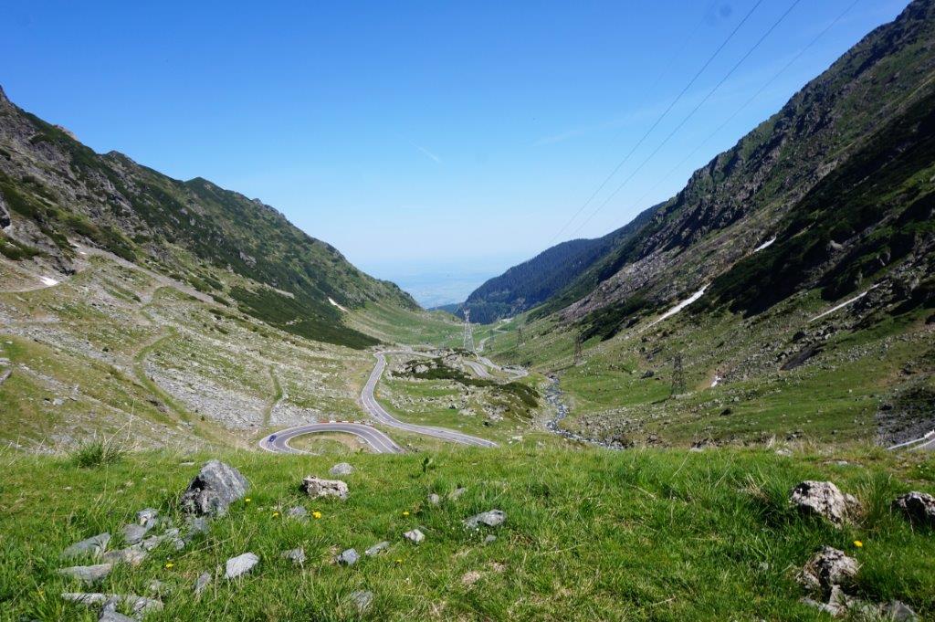
<path fill-rule="evenodd" d="M 315 340 L 374 342 L 343 324 L 338 305 L 417 308 L 395 284 L 354 268 L 260 200 L 201 178 L 171 179 L 119 152 L 95 153 L 2 90 L 0 230 L 8 259 L 67 274 L 74 245 L 87 244 L 233 298 L 242 311 Z M 219 272 L 239 279 L 225 287 Z"/>

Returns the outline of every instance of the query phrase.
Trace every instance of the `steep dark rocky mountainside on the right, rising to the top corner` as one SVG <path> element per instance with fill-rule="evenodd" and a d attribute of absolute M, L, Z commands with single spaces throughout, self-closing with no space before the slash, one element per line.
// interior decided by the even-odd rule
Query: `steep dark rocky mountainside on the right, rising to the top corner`
<path fill-rule="evenodd" d="M 539 311 L 609 337 L 711 285 L 698 309 L 746 314 L 821 287 L 886 281 L 930 299 L 935 3 L 915 0 Z M 913 293 L 914 292 L 914 293 Z"/>

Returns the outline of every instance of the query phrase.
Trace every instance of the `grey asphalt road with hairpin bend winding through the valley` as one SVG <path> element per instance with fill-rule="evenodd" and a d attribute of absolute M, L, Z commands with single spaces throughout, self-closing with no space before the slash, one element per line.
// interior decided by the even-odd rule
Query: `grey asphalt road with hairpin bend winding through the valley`
<path fill-rule="evenodd" d="M 377 401 L 377 398 L 375 398 L 373 395 L 377 388 L 377 383 L 380 382 L 381 376 L 383 375 L 383 370 L 386 369 L 387 354 L 408 354 L 417 356 L 430 355 L 412 352 L 410 350 L 383 350 L 381 352 L 375 353 L 374 356 L 377 359 L 377 364 L 374 366 L 373 371 L 370 372 L 370 377 L 367 378 L 367 384 L 364 385 L 364 389 L 360 393 L 360 401 L 364 406 L 364 410 L 367 411 L 367 414 L 369 414 L 384 426 L 396 427 L 396 429 L 401 429 L 413 434 L 421 434 L 423 436 L 430 436 L 436 439 L 441 439 L 442 441 L 457 442 L 463 445 L 472 445 L 475 447 L 496 447 L 496 442 L 494 441 L 487 441 L 486 439 L 470 436 L 469 434 L 463 434 L 461 432 L 455 432 L 444 427 L 408 424 L 406 422 L 399 421 L 396 419 L 396 417 L 387 412 L 386 409 L 380 405 L 380 402 Z M 304 434 L 315 434 L 323 432 L 353 434 L 354 436 L 366 441 L 367 444 L 378 454 L 401 454 L 404 451 L 402 447 L 396 444 L 396 441 L 393 441 L 393 439 L 375 427 L 341 421 L 288 427 L 264 437 L 259 444 L 260 447 L 268 452 L 281 454 L 302 454 L 304 452 L 291 447 L 289 445 L 289 441 L 295 439 L 297 436 L 302 436 Z"/>

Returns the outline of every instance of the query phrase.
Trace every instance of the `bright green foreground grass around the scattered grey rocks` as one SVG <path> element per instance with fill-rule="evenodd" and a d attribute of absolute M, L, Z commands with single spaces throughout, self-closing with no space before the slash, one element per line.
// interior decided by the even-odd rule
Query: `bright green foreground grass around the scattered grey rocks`
<path fill-rule="evenodd" d="M 118 567 L 88 591 L 148 595 L 165 583 L 165 620 L 358 619 L 823 619 L 798 602 L 795 572 L 829 544 L 862 564 L 857 592 L 904 600 L 935 615 L 935 540 L 891 514 L 897 494 L 935 492 L 935 460 L 879 450 L 626 452 L 537 449 L 452 450 L 405 456 L 352 456 L 346 501 L 304 498 L 307 474 L 327 476 L 335 458 L 231 453 L 114 456 L 97 467 L 62 457 L 0 456 L 0 618 L 94 620 L 65 603 L 81 586 L 57 573 L 65 546 L 102 531 L 122 545 L 122 525 L 147 506 L 174 514 L 175 499 L 209 457 L 251 481 L 250 501 L 233 505 L 181 552 L 156 548 L 137 568 Z M 847 463 L 839 463 L 846 460 Z M 194 465 L 190 464 L 194 462 Z M 787 504 L 804 479 L 828 479 L 856 495 L 858 524 L 831 528 Z M 456 486 L 468 492 L 439 507 L 425 502 Z M 304 505 L 297 522 L 285 509 Z M 500 509 L 496 529 L 469 532 L 471 514 Z M 407 514 L 408 513 L 408 514 Z M 180 521 L 177 521 L 180 522 Z M 403 531 L 422 526 L 411 545 Z M 158 531 L 157 531 L 158 532 Z M 495 542 L 483 543 L 488 533 Z M 393 542 L 350 568 L 336 552 Z M 857 548 L 855 541 L 862 541 Z M 304 568 L 280 557 L 304 546 Z M 252 551 L 260 564 L 228 582 L 216 577 L 200 599 L 195 578 Z M 223 571 L 222 571 L 223 575 Z M 374 600 L 363 615 L 354 590 Z"/>

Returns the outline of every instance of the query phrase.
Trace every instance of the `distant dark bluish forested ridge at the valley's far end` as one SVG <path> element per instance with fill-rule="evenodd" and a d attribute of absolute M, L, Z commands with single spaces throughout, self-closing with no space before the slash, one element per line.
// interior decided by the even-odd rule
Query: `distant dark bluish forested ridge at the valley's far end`
<path fill-rule="evenodd" d="M 472 321 L 489 324 L 542 304 L 635 235 L 658 207 L 643 210 L 630 223 L 602 238 L 562 242 L 513 266 L 474 290 L 458 311 L 467 307 Z"/>

